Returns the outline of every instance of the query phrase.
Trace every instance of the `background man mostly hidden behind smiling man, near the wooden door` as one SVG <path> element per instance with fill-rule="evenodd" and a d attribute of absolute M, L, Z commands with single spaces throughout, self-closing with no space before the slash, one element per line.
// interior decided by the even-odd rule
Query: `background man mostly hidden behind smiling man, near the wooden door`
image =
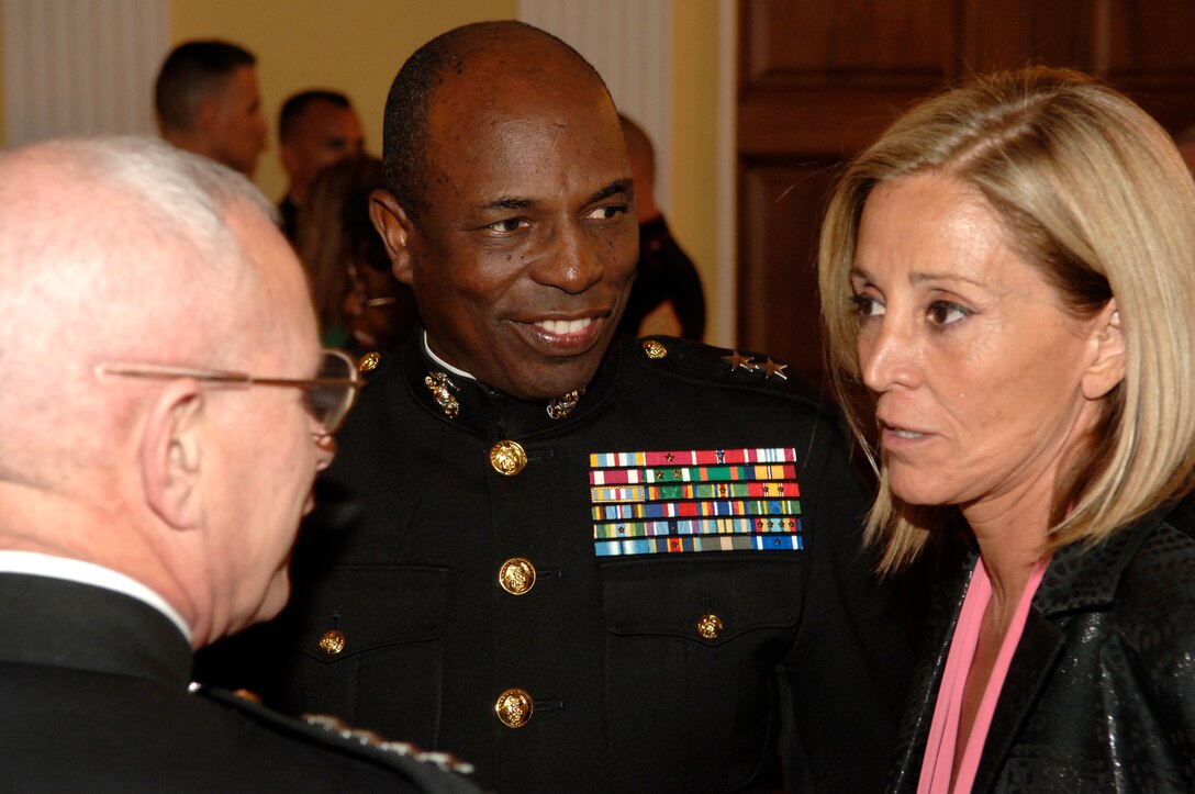
<path fill-rule="evenodd" d="M 618 118 L 635 178 L 639 221 L 639 264 L 618 330 L 632 337 L 664 334 L 700 341 L 705 336 L 701 277 L 656 205 L 655 147 L 643 128 L 621 113 Z"/>

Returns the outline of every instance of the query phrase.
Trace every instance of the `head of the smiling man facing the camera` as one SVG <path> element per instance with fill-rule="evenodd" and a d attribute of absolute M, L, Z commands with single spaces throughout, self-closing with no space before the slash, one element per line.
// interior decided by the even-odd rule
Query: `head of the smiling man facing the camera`
<path fill-rule="evenodd" d="M 615 331 L 638 226 L 601 78 L 519 23 L 449 31 L 386 103 L 374 222 L 433 351 L 526 399 L 578 389 Z"/>

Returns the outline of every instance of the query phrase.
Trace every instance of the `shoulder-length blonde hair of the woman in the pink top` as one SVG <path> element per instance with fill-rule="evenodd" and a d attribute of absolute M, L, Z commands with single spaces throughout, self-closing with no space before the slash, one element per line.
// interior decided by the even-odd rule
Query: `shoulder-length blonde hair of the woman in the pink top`
<path fill-rule="evenodd" d="M 911 562 L 950 506 L 908 505 L 869 441 L 848 273 L 868 196 L 940 173 L 995 209 L 1064 306 L 1091 316 L 1115 297 L 1124 380 L 1071 450 L 1050 511 L 1050 547 L 1098 542 L 1191 488 L 1195 470 L 1195 183 L 1170 136 L 1084 74 L 1044 67 L 978 78 L 899 118 L 838 184 L 819 253 L 833 386 L 881 478 L 866 537 L 880 570 Z"/>

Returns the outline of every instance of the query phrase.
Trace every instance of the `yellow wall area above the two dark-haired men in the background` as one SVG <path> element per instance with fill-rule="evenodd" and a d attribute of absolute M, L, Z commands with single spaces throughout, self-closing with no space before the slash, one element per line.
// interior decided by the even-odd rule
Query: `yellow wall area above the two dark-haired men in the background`
<path fill-rule="evenodd" d="M 171 0 L 171 37 L 226 38 L 257 55 L 270 149 L 256 181 L 271 198 L 286 189 L 278 164 L 278 107 L 295 91 L 343 91 L 361 115 L 366 146 L 381 153 L 381 116 L 398 67 L 429 38 L 480 19 L 511 19 L 517 0 Z"/>

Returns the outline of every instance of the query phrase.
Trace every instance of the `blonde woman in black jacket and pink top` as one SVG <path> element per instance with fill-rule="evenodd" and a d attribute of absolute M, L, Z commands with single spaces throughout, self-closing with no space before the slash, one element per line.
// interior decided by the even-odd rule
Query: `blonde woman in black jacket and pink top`
<path fill-rule="evenodd" d="M 998 74 L 846 172 L 819 263 L 882 570 L 964 533 L 891 789 L 1195 790 L 1195 185 L 1085 75 Z"/>

